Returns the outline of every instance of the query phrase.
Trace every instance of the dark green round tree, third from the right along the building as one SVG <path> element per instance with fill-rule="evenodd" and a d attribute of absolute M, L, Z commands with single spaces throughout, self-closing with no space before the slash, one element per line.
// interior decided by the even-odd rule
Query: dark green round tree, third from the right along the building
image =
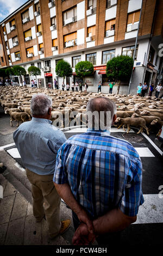
<path fill-rule="evenodd" d="M 63 77 L 64 80 L 65 76 L 72 76 L 72 68 L 70 63 L 66 62 L 64 59 L 59 60 L 55 67 L 55 72 L 57 76 Z"/>

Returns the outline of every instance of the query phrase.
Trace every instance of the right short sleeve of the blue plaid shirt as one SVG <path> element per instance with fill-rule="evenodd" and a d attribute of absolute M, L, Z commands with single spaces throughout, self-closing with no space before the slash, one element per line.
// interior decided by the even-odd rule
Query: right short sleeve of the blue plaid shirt
<path fill-rule="evenodd" d="M 136 216 L 139 211 L 139 206 L 143 204 L 142 194 L 142 163 L 137 159 L 136 163 L 131 163 L 127 184 L 123 190 L 123 196 L 119 204 L 123 214 L 128 216 Z"/>

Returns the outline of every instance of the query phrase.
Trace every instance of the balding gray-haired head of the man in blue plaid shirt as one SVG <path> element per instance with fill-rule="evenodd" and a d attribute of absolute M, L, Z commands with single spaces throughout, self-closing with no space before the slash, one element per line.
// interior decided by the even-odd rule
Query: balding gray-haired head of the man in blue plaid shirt
<path fill-rule="evenodd" d="M 110 130 L 116 110 L 116 103 L 107 97 L 100 96 L 90 99 L 86 107 L 89 128 Z"/>

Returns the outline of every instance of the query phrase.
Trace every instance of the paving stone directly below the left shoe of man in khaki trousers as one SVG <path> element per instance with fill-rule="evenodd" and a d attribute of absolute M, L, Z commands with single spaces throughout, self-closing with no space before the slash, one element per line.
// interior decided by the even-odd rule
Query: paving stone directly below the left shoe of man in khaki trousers
<path fill-rule="evenodd" d="M 41 245 L 41 222 L 36 222 L 33 215 L 26 217 L 23 245 Z"/>

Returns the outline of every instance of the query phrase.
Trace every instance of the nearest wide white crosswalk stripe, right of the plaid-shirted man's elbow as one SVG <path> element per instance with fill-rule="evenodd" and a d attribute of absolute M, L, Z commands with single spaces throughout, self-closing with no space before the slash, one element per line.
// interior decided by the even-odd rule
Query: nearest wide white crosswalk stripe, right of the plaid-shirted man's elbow
<path fill-rule="evenodd" d="M 137 220 L 133 224 L 163 223 L 163 199 L 159 194 L 143 194 L 145 202 L 139 207 Z"/>

